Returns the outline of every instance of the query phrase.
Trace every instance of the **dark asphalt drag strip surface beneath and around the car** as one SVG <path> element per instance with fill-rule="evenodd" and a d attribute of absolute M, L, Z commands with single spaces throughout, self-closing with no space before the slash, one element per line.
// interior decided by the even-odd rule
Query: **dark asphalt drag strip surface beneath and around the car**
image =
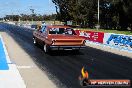
<path fill-rule="evenodd" d="M 81 88 L 78 77 L 83 66 L 90 79 L 132 80 L 132 58 L 91 47 L 80 52 L 53 51 L 45 54 L 41 46 L 34 46 L 32 30 L 0 23 L 0 31 L 9 33 L 60 88 Z"/>

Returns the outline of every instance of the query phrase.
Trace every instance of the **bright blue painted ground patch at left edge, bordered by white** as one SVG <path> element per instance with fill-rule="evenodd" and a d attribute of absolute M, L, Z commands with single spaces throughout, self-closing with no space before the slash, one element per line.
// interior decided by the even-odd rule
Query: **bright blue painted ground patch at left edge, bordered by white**
<path fill-rule="evenodd" d="M 6 55 L 4 52 L 4 47 L 2 44 L 2 40 L 0 38 L 0 70 L 8 70 L 8 64 L 7 64 L 7 60 L 6 60 Z"/>

